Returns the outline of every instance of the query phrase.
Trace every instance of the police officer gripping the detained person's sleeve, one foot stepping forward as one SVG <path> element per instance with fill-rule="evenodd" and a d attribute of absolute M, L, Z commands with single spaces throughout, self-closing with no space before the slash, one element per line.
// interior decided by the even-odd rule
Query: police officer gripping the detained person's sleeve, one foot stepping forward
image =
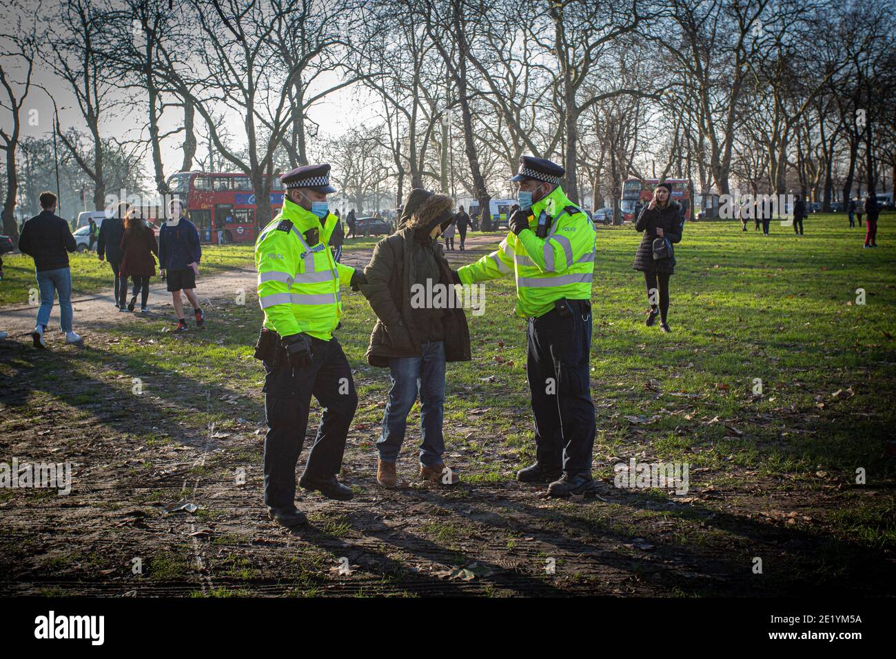
<path fill-rule="evenodd" d="M 332 332 L 342 315 L 340 286 L 358 290 L 363 273 L 338 264 L 328 247 L 338 218 L 327 194 L 330 165 L 307 165 L 280 177 L 286 194 L 280 214 L 255 241 L 258 301 L 264 326 L 255 347 L 263 360 L 264 503 L 284 526 L 306 522 L 296 508 L 296 464 L 308 424 L 311 396 L 323 407 L 314 446 L 299 480 L 306 490 L 348 500 L 336 479 L 358 395 L 339 341 Z"/>

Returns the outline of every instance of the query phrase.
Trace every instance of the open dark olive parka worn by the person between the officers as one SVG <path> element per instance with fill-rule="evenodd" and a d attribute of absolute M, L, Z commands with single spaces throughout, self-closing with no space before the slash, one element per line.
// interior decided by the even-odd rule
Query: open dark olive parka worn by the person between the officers
<path fill-rule="evenodd" d="M 392 358 L 423 354 L 410 306 L 410 287 L 415 280 L 414 232 L 415 227 L 409 226 L 380 240 L 364 271 L 367 283 L 361 285 L 361 292 L 377 317 L 367 348 L 367 362 L 371 366 L 388 367 Z M 444 250 L 436 243 L 433 251 L 441 273 L 439 283 L 452 294 L 451 266 Z M 460 305 L 446 308 L 442 322 L 445 360 L 469 361 L 470 327 L 463 308 Z"/>

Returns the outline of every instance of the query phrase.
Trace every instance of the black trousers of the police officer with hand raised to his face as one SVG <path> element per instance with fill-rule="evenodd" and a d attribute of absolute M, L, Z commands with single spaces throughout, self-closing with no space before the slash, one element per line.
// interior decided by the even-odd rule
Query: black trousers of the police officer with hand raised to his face
<path fill-rule="evenodd" d="M 528 325 L 526 377 L 538 464 L 572 476 L 590 473 L 596 429 L 589 372 L 591 303 L 561 300 Z"/>

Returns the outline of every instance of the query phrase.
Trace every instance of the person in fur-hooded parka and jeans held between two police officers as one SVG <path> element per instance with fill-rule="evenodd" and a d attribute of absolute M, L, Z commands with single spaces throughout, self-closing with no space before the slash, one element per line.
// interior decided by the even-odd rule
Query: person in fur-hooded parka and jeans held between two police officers
<path fill-rule="evenodd" d="M 470 330 L 454 293 L 451 267 L 438 236 L 454 221 L 452 199 L 415 189 L 403 228 L 383 238 L 365 269 L 361 292 L 378 320 L 367 360 L 389 367 L 392 388 L 383 413 L 376 480 L 398 481 L 396 462 L 410 408 L 420 397 L 419 478 L 451 485 L 458 473 L 444 464 L 445 362 L 470 360 Z"/>

